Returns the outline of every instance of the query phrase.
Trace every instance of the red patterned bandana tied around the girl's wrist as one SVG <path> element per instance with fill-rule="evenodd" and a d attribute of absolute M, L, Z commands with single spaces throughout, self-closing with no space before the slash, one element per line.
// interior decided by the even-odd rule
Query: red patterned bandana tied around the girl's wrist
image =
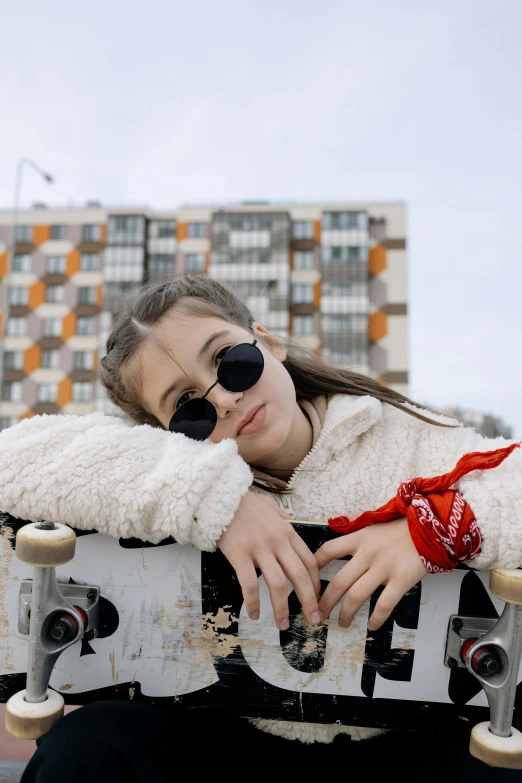
<path fill-rule="evenodd" d="M 352 521 L 335 517 L 328 524 L 336 533 L 347 534 L 374 522 L 405 516 L 412 541 L 428 571 L 452 571 L 458 563 L 467 563 L 480 554 L 482 537 L 473 511 L 460 492 L 450 487 L 472 470 L 496 468 L 519 446 L 520 443 L 513 443 L 496 451 L 464 454 L 450 473 L 405 481 L 384 506 L 365 511 Z"/>

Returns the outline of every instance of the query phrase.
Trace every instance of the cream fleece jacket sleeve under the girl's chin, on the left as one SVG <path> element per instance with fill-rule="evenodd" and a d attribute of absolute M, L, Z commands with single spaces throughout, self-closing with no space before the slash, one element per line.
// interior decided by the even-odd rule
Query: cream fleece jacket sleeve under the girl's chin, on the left
<path fill-rule="evenodd" d="M 0 433 L 0 509 L 21 519 L 212 551 L 251 482 L 233 440 L 102 413 L 35 416 Z"/>

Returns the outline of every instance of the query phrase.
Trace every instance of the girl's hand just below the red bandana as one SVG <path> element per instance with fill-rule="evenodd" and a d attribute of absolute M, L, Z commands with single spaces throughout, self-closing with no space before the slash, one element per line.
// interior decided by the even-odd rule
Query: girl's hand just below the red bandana
<path fill-rule="evenodd" d="M 346 595 L 339 614 L 341 628 L 348 628 L 363 603 L 378 587 L 386 585 L 368 621 L 368 629 L 376 631 L 402 596 L 428 573 L 413 545 L 405 517 L 378 522 L 327 541 L 315 553 L 319 568 L 346 555 L 353 557 L 337 572 L 319 602 L 319 611 L 328 617 Z"/>

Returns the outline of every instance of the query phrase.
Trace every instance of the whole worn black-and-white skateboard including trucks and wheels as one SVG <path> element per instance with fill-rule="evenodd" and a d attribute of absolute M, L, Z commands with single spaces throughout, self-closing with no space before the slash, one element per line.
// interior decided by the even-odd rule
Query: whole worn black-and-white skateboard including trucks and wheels
<path fill-rule="evenodd" d="M 335 537 L 296 522 L 312 551 Z M 219 715 L 466 730 L 471 753 L 522 768 L 522 571 L 427 575 L 378 631 L 376 592 L 348 629 L 312 628 L 289 585 L 290 628 L 246 614 L 220 552 L 0 515 L 0 702 L 15 736 L 66 704 L 138 700 Z M 349 559 L 349 558 L 346 558 Z M 321 572 L 323 588 L 344 565 Z"/>

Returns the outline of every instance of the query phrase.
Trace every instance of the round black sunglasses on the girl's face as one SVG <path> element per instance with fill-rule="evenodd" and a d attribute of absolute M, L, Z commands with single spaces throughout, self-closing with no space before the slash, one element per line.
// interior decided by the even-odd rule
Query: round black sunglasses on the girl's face
<path fill-rule="evenodd" d="M 251 389 L 263 374 L 265 360 L 263 354 L 253 343 L 241 343 L 228 351 L 217 371 L 217 380 L 202 397 L 192 399 L 180 405 L 169 422 L 171 432 L 180 432 L 192 440 L 206 440 L 217 424 L 217 411 L 206 397 L 219 383 L 226 391 L 240 392 Z"/>

